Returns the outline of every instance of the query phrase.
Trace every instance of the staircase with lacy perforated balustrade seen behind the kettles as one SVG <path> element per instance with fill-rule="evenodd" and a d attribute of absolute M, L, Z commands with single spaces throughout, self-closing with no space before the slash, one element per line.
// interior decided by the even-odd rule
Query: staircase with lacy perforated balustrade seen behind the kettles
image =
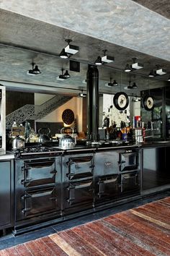
<path fill-rule="evenodd" d="M 24 105 L 6 116 L 6 129 L 10 129 L 14 121 L 16 121 L 17 124 L 21 124 L 24 120 L 42 119 L 56 108 L 62 106 L 67 101 L 70 101 L 71 98 L 73 97 L 60 94 L 55 95 L 49 101 L 46 101 L 41 105 Z"/>

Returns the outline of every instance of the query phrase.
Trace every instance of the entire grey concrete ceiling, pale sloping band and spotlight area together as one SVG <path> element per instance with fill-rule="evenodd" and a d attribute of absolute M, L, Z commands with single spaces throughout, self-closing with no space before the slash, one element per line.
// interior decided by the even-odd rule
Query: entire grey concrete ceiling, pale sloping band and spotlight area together
<path fill-rule="evenodd" d="M 103 54 L 102 50 L 107 49 L 109 56 L 115 56 L 115 62 L 99 67 L 100 92 L 124 90 L 129 80 L 136 82 L 138 89 L 125 90 L 128 94 L 139 95 L 140 90 L 168 85 L 170 22 L 165 7 L 169 7 L 169 1 L 159 4 L 159 8 L 158 1 L 155 2 L 161 15 L 148 1 L 76 0 L 74 7 L 71 0 L 0 1 L 1 83 L 15 90 L 29 88 L 75 95 L 86 90 L 82 81 L 86 79 L 88 64 L 93 64 Z M 66 38 L 80 48 L 70 59 L 80 61 L 81 72 L 69 71 L 69 59 L 59 57 Z M 144 68 L 126 74 L 125 64 L 132 64 L 133 58 L 143 63 Z M 42 74 L 26 74 L 32 61 Z M 148 73 L 156 65 L 166 69 L 167 74 L 148 80 Z M 64 82 L 56 80 L 61 68 L 71 74 Z M 119 86 L 106 87 L 110 77 Z"/>

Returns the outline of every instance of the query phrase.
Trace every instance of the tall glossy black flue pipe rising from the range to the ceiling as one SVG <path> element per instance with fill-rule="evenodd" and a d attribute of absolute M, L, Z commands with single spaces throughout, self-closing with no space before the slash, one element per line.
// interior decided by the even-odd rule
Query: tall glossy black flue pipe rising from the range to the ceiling
<path fill-rule="evenodd" d="M 99 71 L 89 65 L 86 73 L 87 140 L 99 140 Z"/>

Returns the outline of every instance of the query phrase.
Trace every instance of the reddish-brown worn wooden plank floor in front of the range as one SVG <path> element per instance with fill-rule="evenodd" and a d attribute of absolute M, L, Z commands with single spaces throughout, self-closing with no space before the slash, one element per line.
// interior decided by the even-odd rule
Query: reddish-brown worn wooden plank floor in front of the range
<path fill-rule="evenodd" d="M 170 197 L 51 232 L 0 255 L 170 255 Z"/>

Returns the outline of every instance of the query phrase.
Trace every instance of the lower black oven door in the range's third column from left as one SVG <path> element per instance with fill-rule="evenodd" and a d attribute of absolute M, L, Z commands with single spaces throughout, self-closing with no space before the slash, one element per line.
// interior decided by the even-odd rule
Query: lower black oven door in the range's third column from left
<path fill-rule="evenodd" d="M 100 177 L 97 182 L 97 199 L 116 197 L 118 194 L 118 175 Z"/>

